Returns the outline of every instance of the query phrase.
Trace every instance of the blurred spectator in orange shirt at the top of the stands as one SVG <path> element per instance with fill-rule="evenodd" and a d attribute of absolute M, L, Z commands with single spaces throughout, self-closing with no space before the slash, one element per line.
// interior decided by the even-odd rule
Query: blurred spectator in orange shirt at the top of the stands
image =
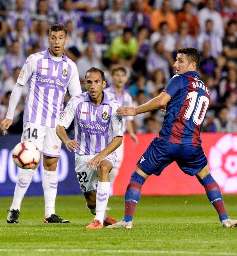
<path fill-rule="evenodd" d="M 157 31 L 162 22 L 169 24 L 171 33 L 177 31 L 177 20 L 175 14 L 171 11 L 170 0 L 164 0 L 161 9 L 156 9 L 151 13 L 151 29 Z"/>

